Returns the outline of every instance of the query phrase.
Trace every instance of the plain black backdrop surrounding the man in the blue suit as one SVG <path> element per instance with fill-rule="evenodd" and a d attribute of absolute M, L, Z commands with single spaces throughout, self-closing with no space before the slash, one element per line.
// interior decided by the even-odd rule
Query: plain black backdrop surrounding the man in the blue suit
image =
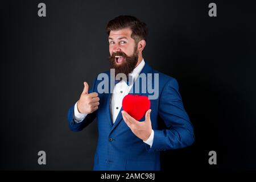
<path fill-rule="evenodd" d="M 46 3 L 47 16 L 38 16 Z M 208 16 L 210 2 L 217 17 Z M 196 142 L 163 153 L 163 169 L 256 169 L 253 1 L 1 2 L 1 169 L 91 170 L 97 123 L 69 131 L 83 82 L 109 68 L 105 26 L 145 22 L 143 57 L 175 77 Z M 38 164 L 46 151 L 47 165 Z M 208 152 L 217 152 L 217 165 Z"/>

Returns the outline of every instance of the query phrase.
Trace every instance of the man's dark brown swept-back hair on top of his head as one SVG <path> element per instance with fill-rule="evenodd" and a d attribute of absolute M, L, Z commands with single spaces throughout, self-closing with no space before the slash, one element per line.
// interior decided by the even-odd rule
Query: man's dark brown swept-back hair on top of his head
<path fill-rule="evenodd" d="M 121 15 L 109 21 L 106 26 L 106 33 L 109 35 L 112 30 L 122 28 L 131 28 L 131 38 L 136 42 L 147 39 L 148 29 L 146 23 L 141 22 L 138 18 L 129 15 Z"/>

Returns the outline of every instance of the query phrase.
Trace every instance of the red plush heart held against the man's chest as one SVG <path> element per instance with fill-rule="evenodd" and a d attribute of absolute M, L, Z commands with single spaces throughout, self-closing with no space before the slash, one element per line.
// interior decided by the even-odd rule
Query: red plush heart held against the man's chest
<path fill-rule="evenodd" d="M 131 117 L 139 121 L 150 109 L 150 100 L 147 96 L 128 94 L 123 98 L 122 107 Z"/>

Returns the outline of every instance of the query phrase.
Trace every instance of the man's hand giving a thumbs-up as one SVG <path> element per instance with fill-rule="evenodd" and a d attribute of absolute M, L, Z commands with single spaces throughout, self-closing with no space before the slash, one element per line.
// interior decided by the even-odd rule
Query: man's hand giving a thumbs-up
<path fill-rule="evenodd" d="M 88 93 L 89 85 L 87 82 L 84 82 L 84 90 L 82 90 L 82 94 L 77 101 L 77 109 L 79 113 L 82 114 L 90 114 L 98 109 L 98 105 L 100 105 L 100 98 L 98 97 L 97 92 Z"/>

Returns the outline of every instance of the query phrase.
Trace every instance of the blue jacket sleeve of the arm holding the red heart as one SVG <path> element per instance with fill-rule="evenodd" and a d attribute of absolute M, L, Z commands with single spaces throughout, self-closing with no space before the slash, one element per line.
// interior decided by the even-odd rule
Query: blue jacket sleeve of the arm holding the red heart
<path fill-rule="evenodd" d="M 147 150 L 163 151 L 182 148 L 194 142 L 193 126 L 183 107 L 179 85 L 175 78 L 171 78 L 160 93 L 158 114 L 167 129 L 154 129 L 153 144 L 151 148 L 147 147 Z"/>

